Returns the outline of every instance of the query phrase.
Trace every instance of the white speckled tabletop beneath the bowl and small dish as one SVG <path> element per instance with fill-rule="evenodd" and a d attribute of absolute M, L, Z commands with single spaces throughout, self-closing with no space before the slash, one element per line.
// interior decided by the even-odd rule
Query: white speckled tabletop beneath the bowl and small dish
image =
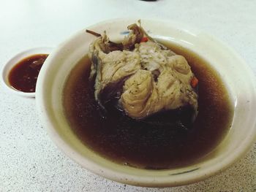
<path fill-rule="evenodd" d="M 56 47 L 111 18 L 175 20 L 233 47 L 256 74 L 254 0 L 1 0 L 0 68 L 31 47 Z M 35 99 L 0 88 L 0 191 L 256 191 L 256 143 L 221 174 L 176 188 L 140 188 L 99 177 L 70 160 L 39 122 Z"/>

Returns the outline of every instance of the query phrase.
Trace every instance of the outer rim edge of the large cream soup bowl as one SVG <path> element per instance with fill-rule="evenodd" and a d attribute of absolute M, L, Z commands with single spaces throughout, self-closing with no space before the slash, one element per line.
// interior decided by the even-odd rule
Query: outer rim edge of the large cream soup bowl
<path fill-rule="evenodd" d="M 94 28 L 94 26 L 99 26 L 102 24 L 110 23 L 110 22 L 117 22 L 121 20 L 130 20 L 130 21 L 136 21 L 138 19 L 135 18 L 117 18 L 112 20 L 104 20 L 102 22 L 99 22 L 97 24 L 94 24 L 92 26 L 88 26 L 86 28 Z M 249 74 L 250 78 L 252 80 L 255 80 L 255 76 L 252 73 L 252 70 L 249 68 L 249 66 L 244 62 L 244 60 L 241 58 L 238 53 L 236 53 L 233 48 L 225 45 L 225 43 L 220 42 L 217 38 L 213 37 L 212 35 L 195 28 L 191 28 L 190 26 L 186 25 L 184 26 L 181 23 L 176 22 L 170 22 L 169 20 L 155 20 L 155 19 L 141 19 L 141 20 L 151 20 L 152 22 L 161 22 L 161 23 L 168 23 L 169 25 L 176 26 L 176 28 L 181 28 L 189 31 L 198 31 L 200 33 L 206 34 L 208 38 L 211 38 L 214 40 L 214 42 L 217 42 L 219 45 L 222 45 L 222 47 L 225 47 L 230 53 L 233 55 L 236 55 L 236 58 L 238 59 L 238 62 L 244 67 L 246 72 Z M 78 31 L 77 33 L 73 34 L 71 37 L 69 37 L 66 41 L 64 41 L 59 47 L 56 48 L 56 50 L 53 52 L 52 55 L 50 55 L 48 59 L 48 63 L 52 60 L 52 58 L 61 51 L 61 49 L 66 45 L 69 41 L 72 41 L 75 37 L 78 36 L 84 29 Z M 46 70 L 46 66 L 43 66 L 43 71 Z M 99 174 L 103 177 L 107 177 L 110 180 L 115 180 L 119 183 L 127 183 L 129 185 L 139 185 L 139 186 L 147 186 L 147 187 L 167 187 L 167 186 L 178 186 L 178 185 L 186 185 L 189 183 L 195 183 L 197 181 L 206 179 L 207 177 L 211 177 L 214 174 L 217 174 L 221 172 L 224 169 L 227 169 L 231 164 L 238 161 L 241 156 L 243 156 L 251 147 L 252 144 L 255 142 L 255 136 L 256 136 L 256 130 L 253 130 L 254 135 L 247 138 L 245 141 L 243 141 L 245 144 L 241 145 L 237 148 L 237 153 L 233 154 L 233 158 L 225 158 L 220 164 L 215 164 L 211 167 L 196 170 L 196 176 L 194 174 L 184 174 L 176 175 L 176 179 L 173 180 L 170 179 L 170 177 L 151 177 L 151 176 L 145 176 L 145 177 L 138 177 L 136 175 L 131 174 L 124 174 L 124 172 L 116 172 L 112 169 L 108 169 L 108 167 L 101 167 L 98 164 L 96 164 L 94 161 L 91 161 L 89 159 L 86 159 L 83 155 L 80 155 L 77 151 L 75 151 L 72 147 L 70 147 L 64 140 L 59 136 L 59 133 L 56 131 L 56 129 L 53 127 L 53 125 L 50 123 L 50 120 L 48 119 L 47 115 L 47 109 L 45 106 L 45 100 L 42 94 L 43 90 L 43 74 L 39 75 L 39 82 L 41 85 L 40 91 L 36 91 L 37 96 L 37 109 L 39 111 L 39 115 L 41 118 L 42 123 L 44 123 L 44 126 L 48 130 L 48 134 L 50 138 L 53 140 L 53 142 L 56 143 L 56 145 L 69 156 L 69 158 L 72 158 L 74 161 L 78 162 L 81 166 L 83 166 L 86 169 L 89 169 L 91 172 L 94 172 L 96 174 Z M 253 85 L 253 91 L 256 93 L 256 86 Z M 252 123 L 253 127 L 255 127 L 256 120 Z M 91 167 L 85 166 L 86 164 L 90 164 Z M 194 170 L 192 170 L 194 171 Z M 117 175 L 118 174 L 118 175 Z M 123 178 L 126 178 L 124 180 Z"/>

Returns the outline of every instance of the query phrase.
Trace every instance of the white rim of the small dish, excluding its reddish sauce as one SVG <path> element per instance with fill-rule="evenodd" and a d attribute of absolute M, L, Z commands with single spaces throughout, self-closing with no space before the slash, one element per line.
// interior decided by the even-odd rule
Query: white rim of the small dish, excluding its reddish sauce
<path fill-rule="evenodd" d="M 18 64 L 19 61 L 23 60 L 23 58 L 27 58 L 30 55 L 35 55 L 35 54 L 50 54 L 52 50 L 53 50 L 52 47 L 35 47 L 29 50 L 24 50 L 23 52 L 20 52 L 14 57 L 12 57 L 7 62 L 7 64 L 4 65 L 4 68 L 1 71 L 1 78 L 7 90 L 10 91 L 10 93 L 18 94 L 19 96 L 34 97 L 35 93 L 26 93 L 23 91 L 19 91 L 13 88 L 12 85 L 10 85 L 9 78 L 8 78 L 10 71 L 16 64 Z"/>

